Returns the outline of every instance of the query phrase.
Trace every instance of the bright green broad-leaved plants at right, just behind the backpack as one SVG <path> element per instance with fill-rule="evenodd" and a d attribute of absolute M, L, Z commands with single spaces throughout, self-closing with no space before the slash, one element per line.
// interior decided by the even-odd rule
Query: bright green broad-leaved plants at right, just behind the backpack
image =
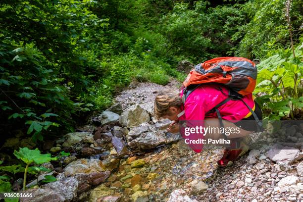
<path fill-rule="evenodd" d="M 302 47 L 297 48 L 297 57 L 289 60 L 280 55 L 273 55 L 258 65 L 256 93 L 261 94 L 257 100 L 269 110 L 269 117 L 279 119 L 290 116 L 295 118 L 303 108 L 303 78 Z M 297 118 L 300 118 L 297 117 Z"/>

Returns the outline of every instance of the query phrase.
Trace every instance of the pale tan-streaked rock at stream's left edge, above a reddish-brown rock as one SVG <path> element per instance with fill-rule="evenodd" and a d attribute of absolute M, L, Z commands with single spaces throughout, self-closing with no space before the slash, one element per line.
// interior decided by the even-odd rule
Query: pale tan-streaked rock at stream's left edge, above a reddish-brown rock
<path fill-rule="evenodd" d="M 78 159 L 69 163 L 64 169 L 65 176 L 72 176 L 80 173 L 102 172 L 101 160 L 99 159 Z"/>

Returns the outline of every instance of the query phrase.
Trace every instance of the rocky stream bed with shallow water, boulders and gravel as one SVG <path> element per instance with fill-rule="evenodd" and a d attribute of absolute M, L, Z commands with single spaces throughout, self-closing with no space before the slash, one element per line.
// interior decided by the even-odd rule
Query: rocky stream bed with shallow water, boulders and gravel
<path fill-rule="evenodd" d="M 271 202 L 303 199 L 301 146 L 261 148 L 232 167 L 218 168 L 224 148 L 190 150 L 180 135 L 165 130 L 169 120 L 152 117 L 153 100 L 166 86 L 132 83 L 116 103 L 88 125 L 56 140 L 50 151 L 70 152 L 60 166 L 50 163 L 57 181 L 28 185 L 34 198 L 22 202 Z M 301 128 L 300 128 L 301 127 Z M 301 140 L 303 125 L 295 127 Z M 284 130 L 285 135 L 289 130 Z M 252 137 L 253 138 L 253 137 Z M 301 141 L 302 142 L 302 141 Z M 41 175 L 38 178 L 42 180 Z"/>

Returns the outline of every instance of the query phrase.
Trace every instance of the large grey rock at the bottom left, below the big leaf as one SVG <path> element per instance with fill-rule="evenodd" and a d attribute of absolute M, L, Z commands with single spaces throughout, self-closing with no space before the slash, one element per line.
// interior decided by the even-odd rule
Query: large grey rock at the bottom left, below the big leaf
<path fill-rule="evenodd" d="M 70 202 L 77 196 L 78 181 L 74 177 L 51 182 L 38 189 L 28 189 L 30 198 L 20 198 L 20 202 Z"/>

